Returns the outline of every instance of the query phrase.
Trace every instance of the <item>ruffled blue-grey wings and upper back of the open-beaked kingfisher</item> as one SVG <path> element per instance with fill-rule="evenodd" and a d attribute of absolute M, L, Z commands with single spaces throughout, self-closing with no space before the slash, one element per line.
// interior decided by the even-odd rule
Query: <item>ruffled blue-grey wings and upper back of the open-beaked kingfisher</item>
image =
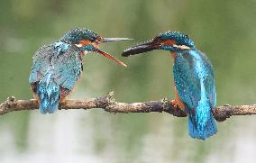
<path fill-rule="evenodd" d="M 81 55 L 68 43 L 57 42 L 41 47 L 33 57 L 30 83 L 35 83 L 52 74 L 56 84 L 69 90 L 75 86 L 83 70 Z"/>

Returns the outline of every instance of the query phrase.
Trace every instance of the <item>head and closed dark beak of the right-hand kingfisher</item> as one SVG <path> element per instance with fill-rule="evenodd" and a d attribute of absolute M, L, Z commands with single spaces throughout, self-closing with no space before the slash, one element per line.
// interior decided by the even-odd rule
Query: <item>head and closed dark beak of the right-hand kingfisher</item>
<path fill-rule="evenodd" d="M 181 32 L 161 32 L 157 37 L 150 41 L 137 44 L 128 50 L 123 50 L 123 56 L 128 57 L 151 50 L 169 50 L 178 52 L 182 50 L 194 49 L 194 42 L 186 34 Z"/>

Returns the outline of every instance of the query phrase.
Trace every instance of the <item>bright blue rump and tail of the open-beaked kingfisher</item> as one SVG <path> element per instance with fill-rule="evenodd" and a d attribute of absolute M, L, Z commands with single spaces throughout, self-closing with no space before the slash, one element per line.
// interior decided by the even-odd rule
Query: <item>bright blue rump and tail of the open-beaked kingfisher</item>
<path fill-rule="evenodd" d="M 37 95 L 40 98 L 40 112 L 54 113 L 59 107 L 59 86 L 50 78 L 41 80 L 37 88 Z"/>

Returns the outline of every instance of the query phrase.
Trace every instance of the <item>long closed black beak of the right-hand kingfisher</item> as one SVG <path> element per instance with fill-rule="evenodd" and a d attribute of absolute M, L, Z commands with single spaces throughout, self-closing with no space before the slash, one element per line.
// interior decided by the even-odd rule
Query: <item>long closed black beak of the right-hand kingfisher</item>
<path fill-rule="evenodd" d="M 155 40 L 145 41 L 127 50 L 123 50 L 122 56 L 128 57 L 130 55 L 140 54 L 140 53 L 151 51 L 151 50 L 158 50 L 160 45 L 161 43 Z"/>

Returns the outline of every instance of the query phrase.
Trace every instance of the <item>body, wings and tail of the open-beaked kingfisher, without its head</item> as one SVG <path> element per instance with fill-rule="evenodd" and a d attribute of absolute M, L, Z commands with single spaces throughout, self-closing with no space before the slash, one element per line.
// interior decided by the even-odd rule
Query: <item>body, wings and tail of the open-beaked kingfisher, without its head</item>
<path fill-rule="evenodd" d="M 29 82 L 40 98 L 41 113 L 54 113 L 59 99 L 69 95 L 83 66 L 79 50 L 68 43 L 56 42 L 41 47 L 33 57 Z"/>

